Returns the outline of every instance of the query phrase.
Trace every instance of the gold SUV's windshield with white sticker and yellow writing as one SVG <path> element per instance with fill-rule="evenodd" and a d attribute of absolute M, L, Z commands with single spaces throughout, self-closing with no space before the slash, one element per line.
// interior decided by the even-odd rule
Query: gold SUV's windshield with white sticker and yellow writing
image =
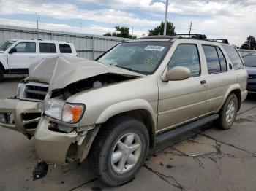
<path fill-rule="evenodd" d="M 171 42 L 124 42 L 97 61 L 142 74 L 152 74 L 165 58 Z"/>

